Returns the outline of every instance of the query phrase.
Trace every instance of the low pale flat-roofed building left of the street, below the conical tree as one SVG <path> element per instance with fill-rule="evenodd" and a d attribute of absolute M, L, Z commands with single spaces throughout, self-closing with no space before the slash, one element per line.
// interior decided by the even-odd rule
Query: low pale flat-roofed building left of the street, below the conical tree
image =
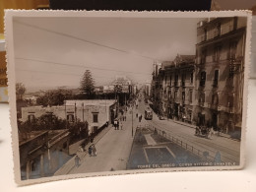
<path fill-rule="evenodd" d="M 23 122 L 38 118 L 43 114 L 52 114 L 69 123 L 87 122 L 89 134 L 95 133 L 106 123 L 116 117 L 116 101 L 113 99 L 65 100 L 60 106 L 29 106 L 22 107 Z"/>

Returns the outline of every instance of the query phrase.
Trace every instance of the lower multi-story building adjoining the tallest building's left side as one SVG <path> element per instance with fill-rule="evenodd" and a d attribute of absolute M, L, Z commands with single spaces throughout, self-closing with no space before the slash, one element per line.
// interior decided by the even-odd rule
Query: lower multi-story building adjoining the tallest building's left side
<path fill-rule="evenodd" d="M 195 97 L 195 55 L 177 55 L 160 69 L 160 115 L 192 121 Z"/>

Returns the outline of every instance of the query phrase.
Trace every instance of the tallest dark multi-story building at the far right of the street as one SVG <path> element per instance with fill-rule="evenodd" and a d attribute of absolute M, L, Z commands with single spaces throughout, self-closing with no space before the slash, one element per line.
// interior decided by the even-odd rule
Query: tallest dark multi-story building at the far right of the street
<path fill-rule="evenodd" d="M 198 23 L 194 120 L 226 133 L 241 130 L 246 18 Z"/>

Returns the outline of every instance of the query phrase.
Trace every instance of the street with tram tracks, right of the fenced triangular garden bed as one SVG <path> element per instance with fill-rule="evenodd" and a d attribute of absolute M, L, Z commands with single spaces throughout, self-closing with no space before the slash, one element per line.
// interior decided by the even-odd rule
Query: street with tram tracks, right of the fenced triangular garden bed
<path fill-rule="evenodd" d="M 138 111 L 143 112 L 145 107 L 147 107 L 145 103 L 143 101 L 140 102 Z M 223 161 L 236 162 L 236 164 L 239 163 L 239 141 L 215 135 L 211 139 L 195 136 L 195 129 L 175 123 L 172 120 L 160 120 L 155 113 L 153 120 L 147 121 L 146 124 L 150 124 L 160 130 L 163 130 L 167 134 L 172 135 L 203 152 L 207 151 L 212 157 L 215 157 L 215 155 L 220 152 Z"/>

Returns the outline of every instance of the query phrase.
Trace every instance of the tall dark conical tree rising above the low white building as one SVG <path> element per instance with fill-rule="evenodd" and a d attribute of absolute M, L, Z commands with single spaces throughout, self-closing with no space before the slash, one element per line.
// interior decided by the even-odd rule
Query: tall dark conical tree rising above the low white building
<path fill-rule="evenodd" d="M 86 70 L 81 81 L 81 91 L 91 98 L 95 94 L 95 81 L 90 70 Z"/>

